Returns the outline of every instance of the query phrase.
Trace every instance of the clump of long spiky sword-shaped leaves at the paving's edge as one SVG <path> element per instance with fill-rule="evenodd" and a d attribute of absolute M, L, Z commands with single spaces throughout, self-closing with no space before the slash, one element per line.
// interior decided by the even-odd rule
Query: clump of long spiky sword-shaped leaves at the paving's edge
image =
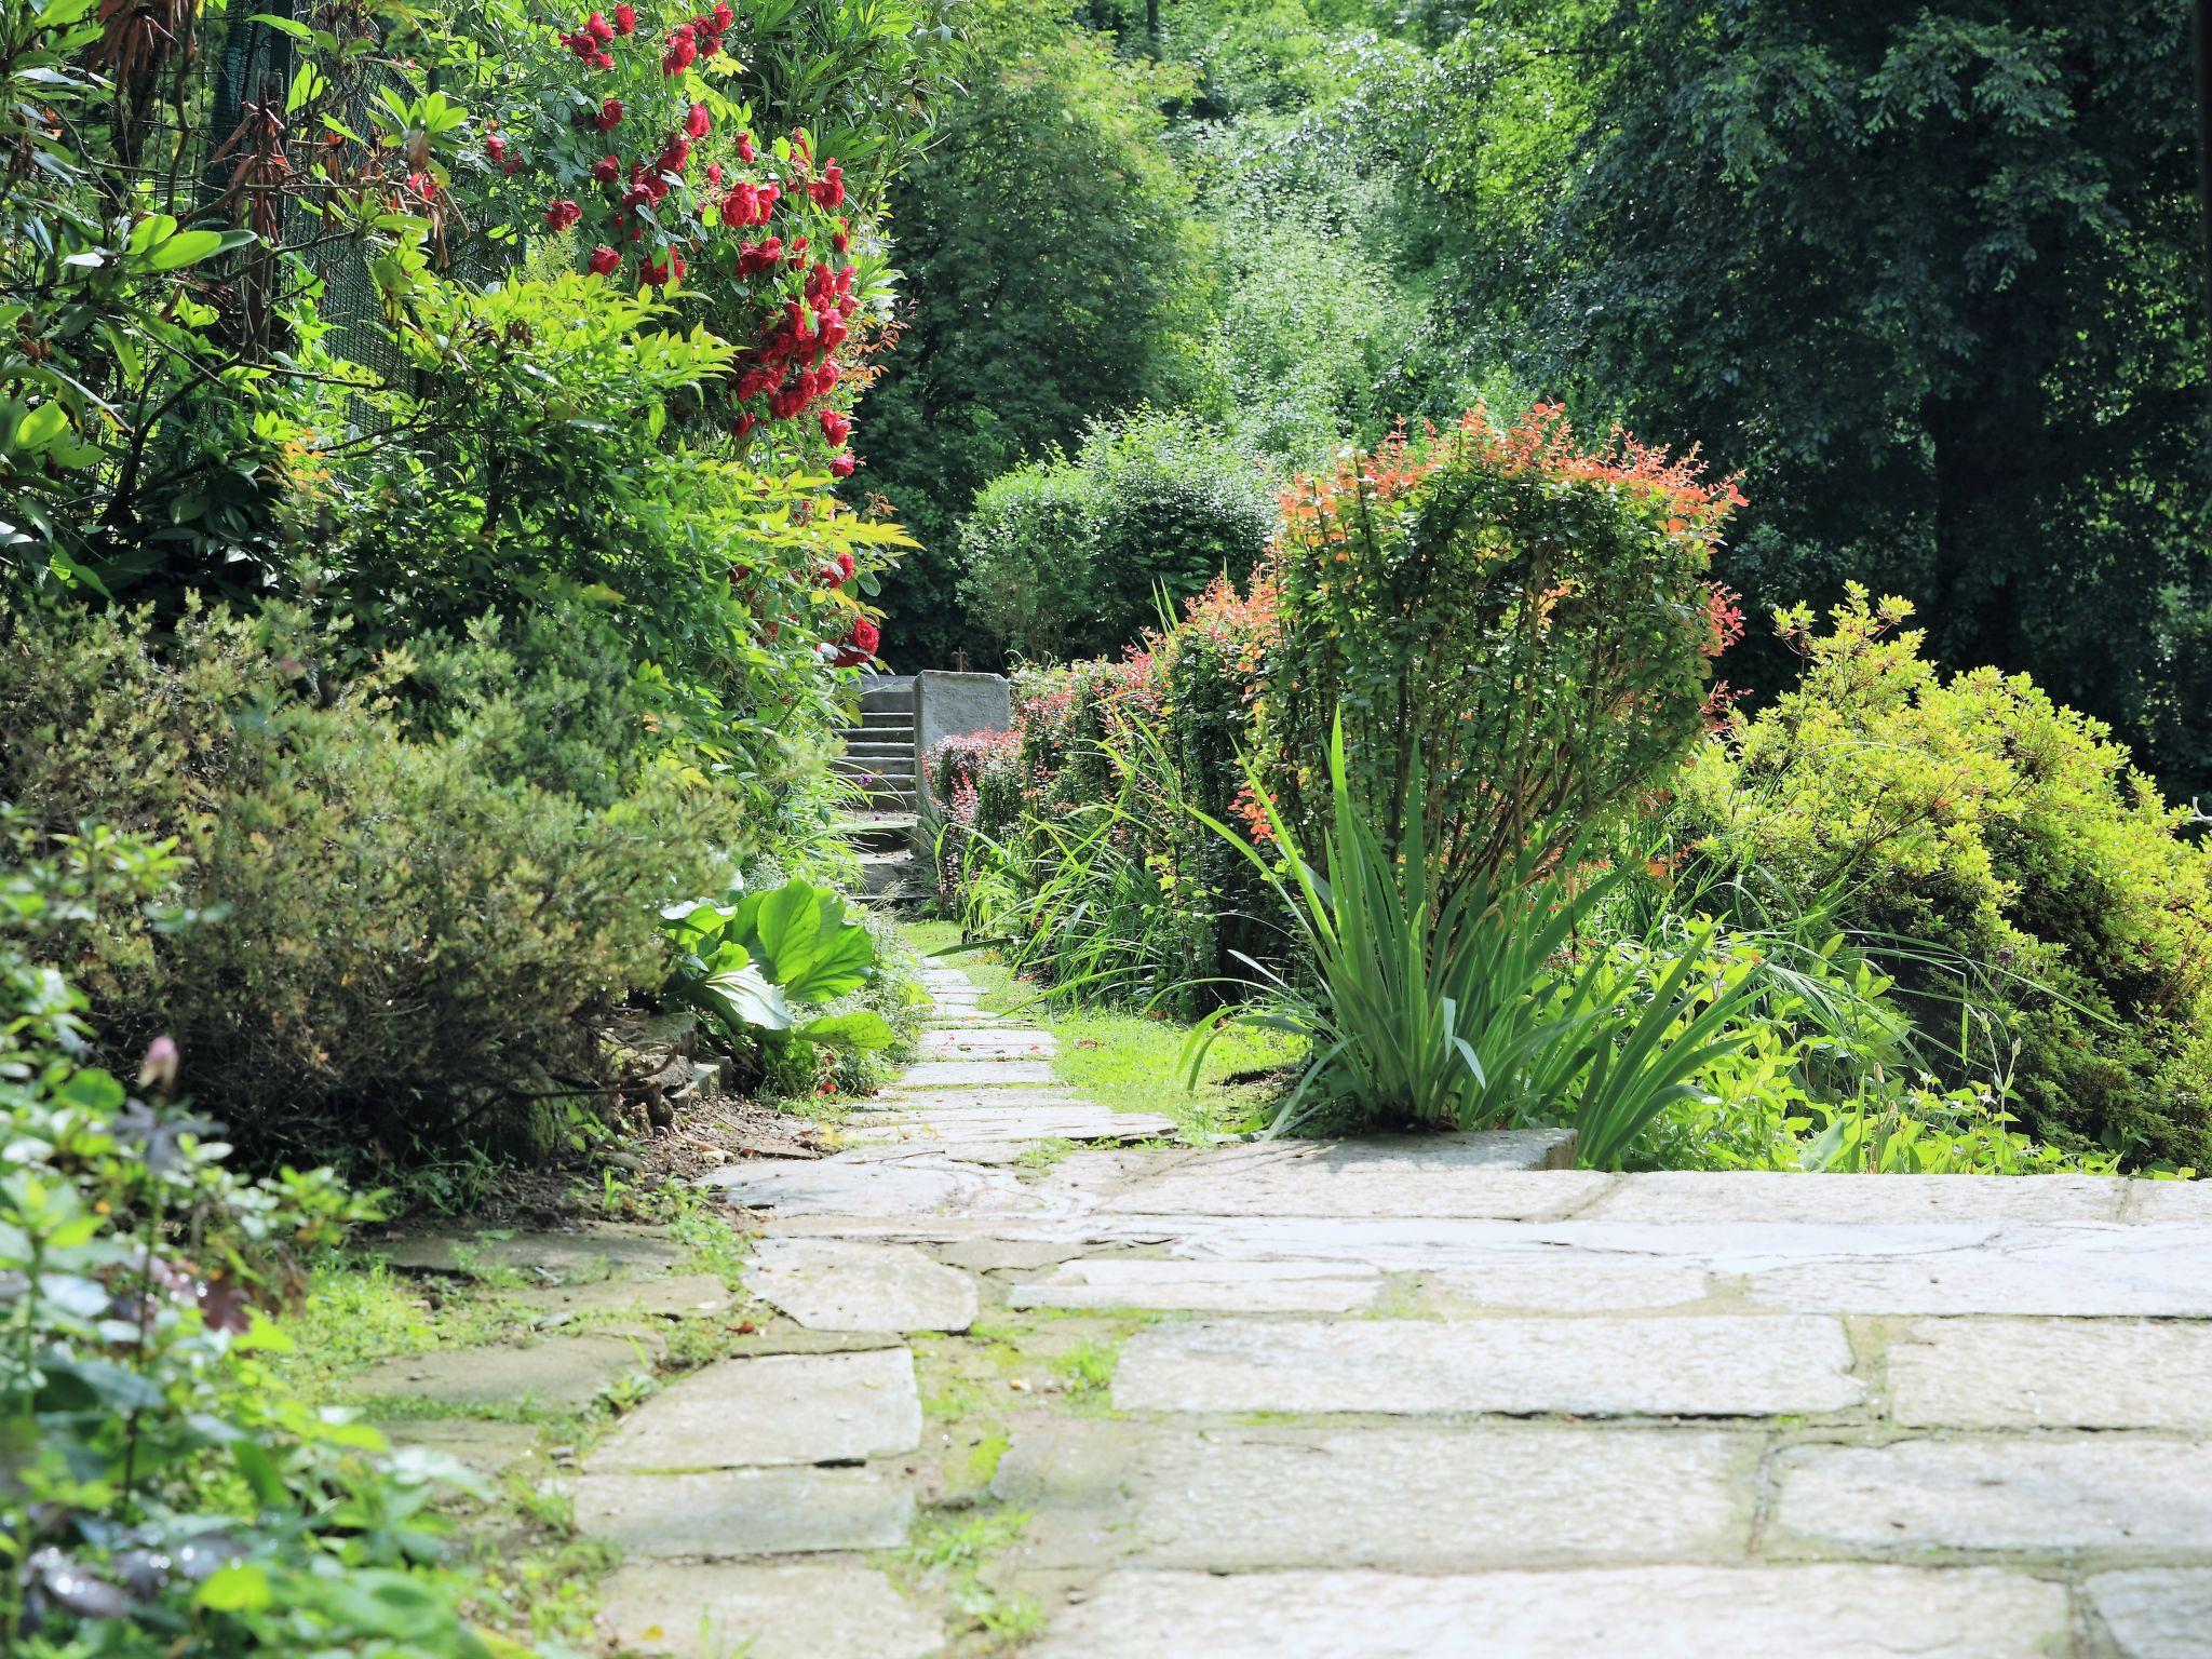
<path fill-rule="evenodd" d="M 1312 1060 L 1274 1133 L 1323 1113 L 1356 1128 L 1573 1124 L 1577 1157 L 1617 1168 L 1666 1106 L 1694 1093 L 1690 1079 L 1741 1044 L 1730 1026 L 1750 984 L 1699 971 L 1703 933 L 1657 984 L 1635 989 L 1582 938 L 1615 876 L 1586 878 L 1579 843 L 1533 834 L 1504 865 L 1453 869 L 1427 841 L 1418 757 L 1402 805 L 1405 843 L 1391 849 L 1358 807 L 1338 721 L 1318 865 L 1274 803 L 1261 814 L 1279 856 L 1208 818 L 1281 900 L 1294 967 L 1243 958 L 1259 1000 L 1197 1026 L 1190 1077 L 1228 1022 L 1290 1031 Z M 1557 841 L 1568 856 L 1546 852 Z"/>

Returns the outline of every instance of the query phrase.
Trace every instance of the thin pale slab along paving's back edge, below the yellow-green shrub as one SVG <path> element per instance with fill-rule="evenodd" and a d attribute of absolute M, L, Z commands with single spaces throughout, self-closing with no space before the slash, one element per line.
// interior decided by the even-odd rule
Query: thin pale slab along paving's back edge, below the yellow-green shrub
<path fill-rule="evenodd" d="M 2119 1221 L 2126 1183 L 2095 1175 L 1624 1175 L 1586 1221 Z"/>

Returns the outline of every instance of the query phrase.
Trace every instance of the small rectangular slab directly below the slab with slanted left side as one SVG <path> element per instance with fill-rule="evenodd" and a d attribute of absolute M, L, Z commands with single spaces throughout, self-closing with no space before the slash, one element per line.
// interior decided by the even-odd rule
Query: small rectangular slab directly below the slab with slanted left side
<path fill-rule="evenodd" d="M 876 1469 L 582 1475 L 575 1526 L 630 1557 L 883 1551 L 907 1542 L 914 1493 Z"/>

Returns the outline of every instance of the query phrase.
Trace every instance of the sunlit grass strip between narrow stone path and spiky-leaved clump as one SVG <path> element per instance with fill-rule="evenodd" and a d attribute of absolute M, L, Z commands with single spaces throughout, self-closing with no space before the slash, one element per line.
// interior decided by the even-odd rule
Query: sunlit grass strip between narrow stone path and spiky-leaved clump
<path fill-rule="evenodd" d="M 902 931 L 920 956 L 960 945 L 960 929 L 951 922 L 907 922 Z M 1190 1137 L 1259 1128 L 1267 1099 L 1281 1088 L 1281 1073 L 1303 1051 L 1296 1037 L 1279 1031 L 1232 1026 L 1206 1055 L 1199 1086 L 1183 1088 L 1181 1055 L 1190 1026 L 1144 1013 L 1055 1011 L 991 951 L 964 951 L 945 964 L 984 989 L 984 1009 L 1020 1013 L 1060 1037 L 1053 1071 L 1071 1088 L 1108 1106 L 1164 1113 Z"/>

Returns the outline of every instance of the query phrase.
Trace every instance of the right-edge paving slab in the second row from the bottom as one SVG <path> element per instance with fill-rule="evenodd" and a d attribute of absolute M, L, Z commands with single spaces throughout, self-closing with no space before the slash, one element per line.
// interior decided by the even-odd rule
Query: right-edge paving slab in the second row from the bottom
<path fill-rule="evenodd" d="M 1807 1444 L 1774 1478 L 1776 1535 L 1820 1551 L 2212 1548 L 2212 1447 L 2185 1440 Z"/>

